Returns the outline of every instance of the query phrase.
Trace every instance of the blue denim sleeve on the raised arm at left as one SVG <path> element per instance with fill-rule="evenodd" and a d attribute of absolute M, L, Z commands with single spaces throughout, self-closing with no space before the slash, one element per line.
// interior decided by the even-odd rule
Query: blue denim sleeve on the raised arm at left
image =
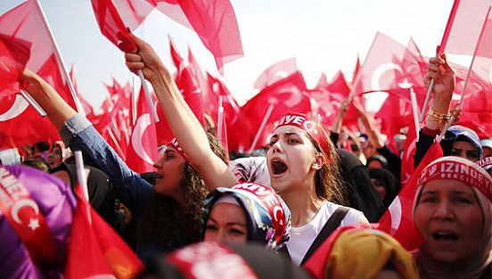
<path fill-rule="evenodd" d="M 111 177 L 118 198 L 132 213 L 140 215 L 143 204 L 152 192 L 152 185 L 143 180 L 119 158 L 110 144 L 95 130 L 91 122 L 81 114 L 65 121 L 60 128 L 63 142 L 72 151 L 81 151 Z"/>

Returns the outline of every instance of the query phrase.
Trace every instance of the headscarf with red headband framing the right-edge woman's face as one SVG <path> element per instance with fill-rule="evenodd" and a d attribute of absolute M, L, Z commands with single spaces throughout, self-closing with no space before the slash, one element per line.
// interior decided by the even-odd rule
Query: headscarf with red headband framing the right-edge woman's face
<path fill-rule="evenodd" d="M 435 179 L 448 179 L 463 182 L 463 184 L 471 187 L 480 209 L 483 213 L 483 233 L 480 239 L 480 248 L 475 253 L 474 258 L 470 258 L 468 265 L 463 267 L 459 274 L 455 274 L 449 279 L 461 278 L 480 278 L 486 267 L 492 263 L 492 178 L 488 173 L 479 167 L 479 165 L 465 160 L 460 157 L 448 156 L 434 160 L 422 169 L 422 173 L 417 182 L 417 191 L 414 199 L 414 215 L 415 209 L 419 203 L 423 186 Z M 444 185 L 443 185 L 444 186 Z M 427 264 L 427 261 L 422 258 L 422 253 L 417 255 L 419 271 L 422 277 L 436 278 L 439 270 L 436 267 Z"/>

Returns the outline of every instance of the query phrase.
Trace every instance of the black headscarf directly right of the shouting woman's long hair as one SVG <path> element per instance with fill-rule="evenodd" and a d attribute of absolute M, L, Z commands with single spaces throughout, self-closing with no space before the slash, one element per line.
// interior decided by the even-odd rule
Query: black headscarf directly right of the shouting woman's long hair
<path fill-rule="evenodd" d="M 377 222 L 384 213 L 382 201 L 371 185 L 367 168 L 357 156 L 344 149 L 337 149 L 340 157 L 340 176 L 348 206 L 364 212 L 369 222 Z"/>

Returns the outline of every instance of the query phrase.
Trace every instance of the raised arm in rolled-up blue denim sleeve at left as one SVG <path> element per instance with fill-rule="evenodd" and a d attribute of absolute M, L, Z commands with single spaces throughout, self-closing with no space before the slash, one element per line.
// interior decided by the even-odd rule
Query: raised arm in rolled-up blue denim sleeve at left
<path fill-rule="evenodd" d="M 138 204 L 145 201 L 148 193 L 152 191 L 152 185 L 128 168 L 92 124 L 74 111 L 45 80 L 29 70 L 25 70 L 22 79 L 28 82 L 27 91 L 59 129 L 65 144 L 73 151 L 82 151 L 107 173 L 117 188 L 119 199 L 130 210 L 137 211 L 140 207 Z"/>

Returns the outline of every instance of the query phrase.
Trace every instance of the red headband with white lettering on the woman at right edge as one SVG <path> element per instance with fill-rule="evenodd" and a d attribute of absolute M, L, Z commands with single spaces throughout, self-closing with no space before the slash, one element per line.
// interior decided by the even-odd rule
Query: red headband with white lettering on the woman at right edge
<path fill-rule="evenodd" d="M 422 170 L 417 185 L 435 179 L 453 179 L 477 188 L 488 201 L 492 201 L 492 178 L 471 160 L 459 157 L 443 157 Z"/>

